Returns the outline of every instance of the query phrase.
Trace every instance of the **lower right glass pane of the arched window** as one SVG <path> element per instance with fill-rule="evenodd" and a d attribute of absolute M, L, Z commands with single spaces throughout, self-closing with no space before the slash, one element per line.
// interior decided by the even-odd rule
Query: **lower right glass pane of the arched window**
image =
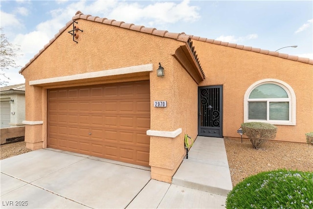
<path fill-rule="evenodd" d="M 289 120 L 289 102 L 269 102 L 270 120 Z"/>

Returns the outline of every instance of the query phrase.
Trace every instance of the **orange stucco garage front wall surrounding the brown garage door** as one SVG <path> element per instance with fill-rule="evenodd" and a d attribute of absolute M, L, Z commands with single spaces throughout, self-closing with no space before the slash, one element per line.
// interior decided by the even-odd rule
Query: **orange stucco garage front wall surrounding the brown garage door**
<path fill-rule="evenodd" d="M 197 117 L 197 85 L 172 56 L 185 43 L 87 20 L 77 22 L 84 30 L 78 32 L 78 44 L 64 32 L 22 72 L 26 80 L 26 146 L 31 149 L 47 146 L 47 89 L 150 80 L 150 129 L 167 132 L 178 128 L 183 130 L 174 139 L 151 137 L 152 176 L 170 182 L 184 157 L 183 134 L 197 136 L 197 124 L 194 123 Z M 68 27 L 70 29 L 71 26 Z M 156 76 L 159 62 L 165 69 L 164 77 Z M 153 71 L 70 81 L 59 79 L 79 73 L 118 71 L 146 64 L 152 64 Z M 53 78 L 53 82 L 29 84 L 30 81 L 48 78 Z M 154 108 L 155 100 L 167 101 L 167 107 Z M 187 113 L 183 115 L 181 111 Z"/>

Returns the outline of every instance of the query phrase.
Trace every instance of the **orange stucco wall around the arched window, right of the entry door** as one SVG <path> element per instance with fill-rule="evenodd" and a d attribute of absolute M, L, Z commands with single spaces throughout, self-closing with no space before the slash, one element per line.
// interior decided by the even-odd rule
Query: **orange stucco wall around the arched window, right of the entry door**
<path fill-rule="evenodd" d="M 224 137 L 239 138 L 244 122 L 244 95 L 256 81 L 286 82 L 296 96 L 296 125 L 277 125 L 275 140 L 306 142 L 313 130 L 313 66 L 261 53 L 193 40 L 207 78 L 200 86 L 223 85 Z M 245 137 L 245 136 L 244 136 Z"/>

